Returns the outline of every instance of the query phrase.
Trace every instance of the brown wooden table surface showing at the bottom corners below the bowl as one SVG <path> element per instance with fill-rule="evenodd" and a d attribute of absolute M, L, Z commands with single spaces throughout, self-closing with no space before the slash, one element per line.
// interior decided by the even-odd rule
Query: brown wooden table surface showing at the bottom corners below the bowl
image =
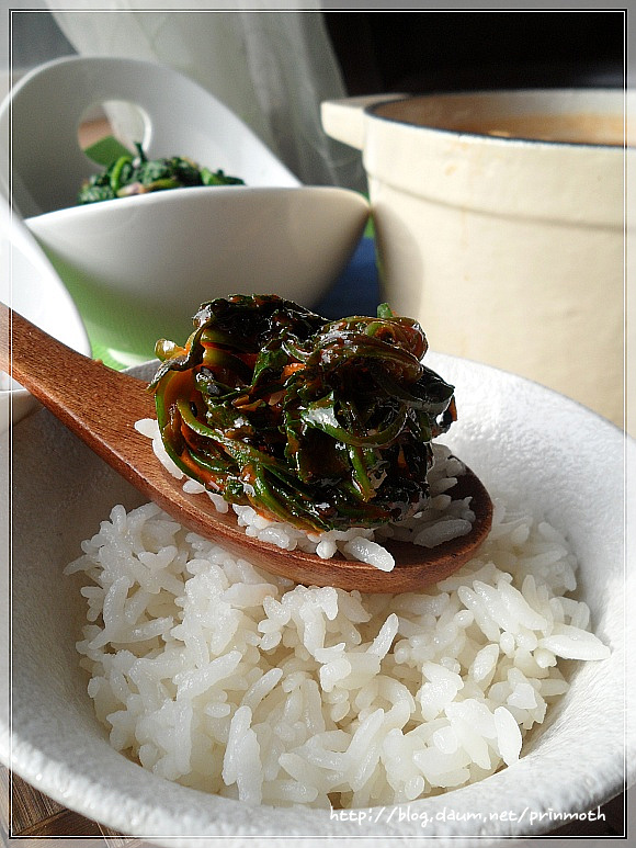
<path fill-rule="evenodd" d="M 626 834 L 625 794 L 601 807 L 595 822 L 572 822 L 550 836 L 620 837 Z M 20 848 L 36 848 L 42 837 L 92 837 L 95 848 L 141 848 L 141 839 L 112 830 L 61 806 L 0 766 L 0 844 L 2 837 L 20 837 Z M 29 838 L 31 837 L 31 838 Z M 42 848 L 39 843 L 38 848 Z"/>

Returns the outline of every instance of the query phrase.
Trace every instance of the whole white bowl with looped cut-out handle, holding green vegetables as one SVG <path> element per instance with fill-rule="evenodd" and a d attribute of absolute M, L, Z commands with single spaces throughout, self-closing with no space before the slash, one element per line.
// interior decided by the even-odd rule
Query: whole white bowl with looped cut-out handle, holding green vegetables
<path fill-rule="evenodd" d="M 64 95 L 60 95 L 64 92 Z M 100 170 L 80 149 L 87 109 L 139 111 L 149 158 L 186 156 L 246 185 L 155 192 L 77 206 Z M 111 108 L 112 109 L 112 108 Z M 124 114 L 127 114 L 127 109 Z M 115 115 L 122 106 L 115 108 Z M 167 66 L 77 57 L 31 71 L 0 108 L 0 188 L 75 297 L 100 357 L 133 364 L 184 341 L 204 301 L 275 292 L 313 306 L 368 216 L 359 193 L 305 186 L 234 113 Z M 7 149 L 4 149 L 7 147 Z"/>

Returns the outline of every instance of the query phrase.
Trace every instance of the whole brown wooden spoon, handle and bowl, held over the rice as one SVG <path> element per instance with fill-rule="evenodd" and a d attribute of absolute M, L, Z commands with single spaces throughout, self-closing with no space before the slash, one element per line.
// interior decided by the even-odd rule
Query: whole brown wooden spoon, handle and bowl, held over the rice
<path fill-rule="evenodd" d="M 11 321 L 11 355 L 0 351 L 0 369 L 27 388 L 66 427 L 80 437 L 145 496 L 178 521 L 266 572 L 296 583 L 338 586 L 364 592 L 413 591 L 457 570 L 481 544 L 492 521 L 492 504 L 478 477 L 466 468 L 451 490 L 472 496 L 476 520 L 470 533 L 433 549 L 387 543 L 396 559 L 391 572 L 344 558 L 321 559 L 302 551 L 283 551 L 247 536 L 236 516 L 217 512 L 203 495 L 186 495 L 183 480 L 157 460 L 151 441 L 135 421 L 155 418 L 155 400 L 146 383 L 113 371 L 67 348 L 25 318 L 0 305 L 0 319 Z"/>

